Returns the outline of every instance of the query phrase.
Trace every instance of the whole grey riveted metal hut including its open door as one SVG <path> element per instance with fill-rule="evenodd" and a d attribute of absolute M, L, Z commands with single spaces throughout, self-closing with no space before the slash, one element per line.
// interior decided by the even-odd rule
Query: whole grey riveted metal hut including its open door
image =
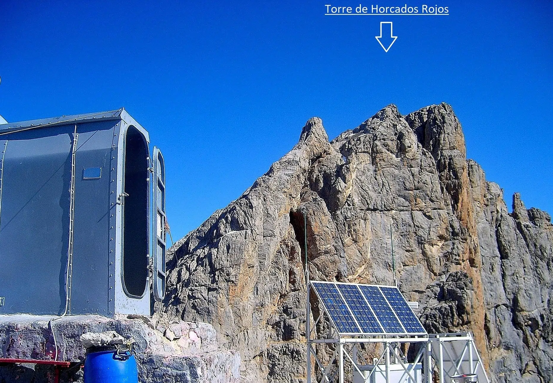
<path fill-rule="evenodd" d="M 0 314 L 149 315 L 165 169 L 123 108 L 0 125 Z"/>

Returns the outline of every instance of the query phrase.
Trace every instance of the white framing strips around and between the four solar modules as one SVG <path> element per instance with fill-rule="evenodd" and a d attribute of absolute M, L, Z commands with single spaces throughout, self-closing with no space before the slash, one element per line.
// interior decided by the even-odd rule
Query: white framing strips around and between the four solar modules
<path fill-rule="evenodd" d="M 343 331 L 340 330 L 340 329 L 345 330 L 345 328 L 343 328 L 342 326 L 340 326 L 341 328 L 338 327 L 337 323 L 335 323 L 336 321 L 332 319 L 331 313 L 329 312 L 329 309 L 327 308 L 327 305 L 325 304 L 324 299 L 321 297 L 321 294 L 317 290 L 317 287 L 316 287 L 315 284 L 320 284 L 319 286 L 321 286 L 322 284 L 330 284 L 331 286 L 333 286 L 336 289 L 336 291 L 340 295 L 341 303 L 347 308 L 347 310 L 349 312 L 349 315 L 351 315 L 351 318 L 353 319 L 354 323 L 357 325 L 359 332 L 347 332 L 347 331 L 343 332 Z M 354 310 L 352 309 L 351 304 L 348 303 L 348 299 L 346 299 L 346 297 L 343 295 L 343 292 L 340 289 L 339 285 L 348 285 L 348 286 L 356 286 L 357 287 L 359 293 L 365 299 L 365 301 L 367 303 L 367 307 L 370 309 L 371 314 L 374 315 L 374 318 L 377 320 L 378 325 L 383 330 L 383 332 L 364 332 L 364 329 L 363 329 L 361 323 L 358 320 L 359 318 L 356 317 L 356 314 L 354 314 Z M 362 288 L 361 288 L 362 286 L 373 287 L 373 288 L 376 288 L 378 290 L 380 296 L 382 297 L 383 301 L 387 305 L 387 308 L 390 309 L 390 312 L 394 315 L 394 318 L 399 323 L 399 327 L 403 330 L 402 332 L 386 331 L 386 327 L 385 327 L 385 325 L 382 324 L 381 320 L 379 319 L 379 317 L 377 315 L 377 312 L 375 312 L 375 310 L 373 308 L 373 304 L 371 304 L 369 299 L 366 297 L 366 294 L 363 293 Z M 379 337 L 379 336 L 383 336 L 383 335 L 422 335 L 422 336 L 427 335 L 427 332 L 424 329 L 424 327 L 422 327 L 422 324 L 420 323 L 420 320 L 416 317 L 415 313 L 413 312 L 413 309 L 411 309 L 409 304 L 406 302 L 405 297 L 403 297 L 403 294 L 401 294 L 401 292 L 399 291 L 399 288 L 397 286 L 387 286 L 387 285 L 377 285 L 377 284 L 363 284 L 363 283 L 311 281 L 311 287 L 315 291 L 315 294 L 317 295 L 317 297 L 319 297 L 319 301 L 322 303 L 323 309 L 327 313 L 333 327 L 337 330 L 338 334 L 341 334 L 341 335 L 370 335 L 370 336 L 375 336 L 375 337 Z M 415 324 L 420 325 L 419 330 L 422 329 L 421 332 L 409 331 L 408 328 L 405 327 L 405 324 L 404 324 L 403 320 L 401 320 L 400 316 L 396 312 L 396 309 L 394 309 L 393 304 L 389 302 L 389 300 L 386 297 L 386 294 L 384 294 L 384 291 L 382 290 L 382 288 L 389 288 L 389 289 L 393 289 L 394 291 L 397 291 L 397 293 L 401 297 L 401 300 L 406 304 L 406 307 L 409 310 L 408 314 L 410 313 L 410 314 L 413 315 L 413 317 L 410 317 L 410 315 L 409 315 L 410 319 L 413 319 L 413 318 L 415 319 L 415 321 L 416 321 Z M 343 310 L 343 308 L 342 308 L 342 310 Z M 404 310 L 403 313 L 405 313 L 405 310 L 406 310 L 405 306 L 403 306 L 403 310 Z M 411 328 L 412 325 L 413 324 L 411 323 L 409 325 L 409 328 Z M 349 330 L 351 330 L 351 329 L 352 328 L 349 328 Z M 398 329 L 398 328 L 396 328 L 396 329 Z"/>

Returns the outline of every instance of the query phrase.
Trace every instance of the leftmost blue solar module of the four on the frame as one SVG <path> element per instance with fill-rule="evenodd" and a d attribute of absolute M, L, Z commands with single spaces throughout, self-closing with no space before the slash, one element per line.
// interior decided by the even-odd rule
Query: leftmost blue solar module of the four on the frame
<path fill-rule="evenodd" d="M 359 334 L 359 327 L 353 320 L 334 283 L 312 282 L 313 287 L 319 293 L 322 304 L 326 307 L 328 315 L 336 325 L 336 329 L 342 334 Z"/>

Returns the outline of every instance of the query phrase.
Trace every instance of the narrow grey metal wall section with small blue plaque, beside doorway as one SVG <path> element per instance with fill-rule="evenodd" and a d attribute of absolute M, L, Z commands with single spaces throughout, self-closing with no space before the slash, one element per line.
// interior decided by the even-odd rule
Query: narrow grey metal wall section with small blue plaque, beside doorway
<path fill-rule="evenodd" d="M 108 315 L 109 177 L 84 179 L 85 168 L 107 169 L 116 121 L 77 125 L 71 314 Z"/>

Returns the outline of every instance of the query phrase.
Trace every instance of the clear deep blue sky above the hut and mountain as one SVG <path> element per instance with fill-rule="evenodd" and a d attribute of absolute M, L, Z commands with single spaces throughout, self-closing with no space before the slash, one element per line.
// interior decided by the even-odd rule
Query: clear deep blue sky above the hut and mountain
<path fill-rule="evenodd" d="M 325 4 L 359 3 L 0 0 L 0 114 L 124 106 L 164 152 L 175 240 L 265 173 L 310 117 L 333 138 L 389 103 L 404 114 L 450 103 L 467 156 L 509 208 L 520 192 L 553 213 L 553 6 L 324 15 Z M 388 53 L 374 38 L 381 21 L 398 36 Z"/>

